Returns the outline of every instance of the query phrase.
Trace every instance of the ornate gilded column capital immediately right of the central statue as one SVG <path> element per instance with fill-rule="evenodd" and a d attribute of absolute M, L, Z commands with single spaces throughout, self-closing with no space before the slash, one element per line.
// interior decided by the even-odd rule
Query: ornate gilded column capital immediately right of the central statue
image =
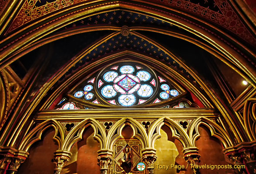
<path fill-rule="evenodd" d="M 146 169 L 148 171 L 148 174 L 154 174 L 154 168 L 155 168 L 155 161 L 157 159 L 156 149 L 154 148 L 145 148 L 142 151 L 142 161 L 146 165 Z"/>

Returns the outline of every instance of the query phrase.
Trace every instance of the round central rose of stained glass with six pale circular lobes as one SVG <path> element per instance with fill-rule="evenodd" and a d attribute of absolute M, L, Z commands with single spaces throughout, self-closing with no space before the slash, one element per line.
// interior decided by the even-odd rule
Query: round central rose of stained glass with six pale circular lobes
<path fill-rule="evenodd" d="M 155 79 L 153 73 L 144 67 L 133 64 L 114 66 L 98 78 L 98 92 L 111 104 L 142 104 L 155 93 Z"/>

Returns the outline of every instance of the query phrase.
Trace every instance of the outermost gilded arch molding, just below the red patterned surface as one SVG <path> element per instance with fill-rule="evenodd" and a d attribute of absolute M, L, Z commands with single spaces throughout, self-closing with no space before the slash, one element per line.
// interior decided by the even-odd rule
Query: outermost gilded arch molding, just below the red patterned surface
<path fill-rule="evenodd" d="M 112 2 L 112 7 L 111 5 L 107 6 L 106 4 L 104 5 L 99 5 L 101 7 L 95 7 L 95 10 L 94 11 L 97 11 L 97 10 L 102 10 L 102 8 L 106 8 L 106 9 L 111 9 L 111 8 L 116 8 L 116 7 L 123 7 L 123 8 L 127 8 L 127 5 L 124 3 L 124 2 L 115 2 L 116 4 L 113 5 L 114 2 Z M 171 23 L 179 26 L 179 27 L 182 27 L 184 28 L 185 30 L 189 30 L 189 32 L 194 32 L 194 31 L 197 31 L 197 33 L 194 33 L 196 35 L 200 35 L 200 37 L 202 37 L 203 39 L 207 40 L 209 43 L 211 43 L 214 47 L 217 47 L 223 54 L 226 54 L 226 56 L 229 57 L 230 60 L 233 60 L 233 62 L 239 67 L 239 68 L 242 68 L 243 71 L 246 71 L 250 78 L 252 79 L 252 81 L 255 81 L 254 79 L 254 76 L 255 76 L 255 73 L 254 73 L 254 70 L 253 70 L 253 67 L 252 65 L 250 65 L 250 63 L 247 62 L 247 60 L 245 60 L 244 58 L 241 57 L 241 55 L 237 54 L 236 51 L 234 51 L 232 48 L 230 48 L 228 46 L 228 44 L 226 44 L 225 42 L 223 42 L 222 40 L 220 40 L 218 37 L 215 37 L 215 36 L 212 36 L 212 35 L 209 35 L 209 32 L 208 31 L 205 31 L 205 30 L 202 30 L 200 27 L 197 27 L 189 22 L 186 22 L 184 20 L 181 20 L 180 18 L 177 18 L 177 17 L 173 17 L 172 15 L 168 15 L 167 13 L 163 13 L 163 12 L 159 12 L 158 10 L 149 10 L 146 6 L 145 7 L 137 7 L 136 4 L 129 4 L 129 5 L 134 5 L 135 9 L 136 10 L 140 10 L 140 11 L 143 11 L 145 13 L 153 13 L 156 15 L 156 17 L 159 17 L 159 16 L 162 16 L 165 18 L 165 20 L 168 20 L 170 21 Z M 103 9 L 104 9 L 103 8 Z M 85 9 L 84 9 L 85 10 Z M 172 9 L 170 9 L 172 10 Z M 69 17 L 69 20 L 71 20 L 70 22 L 68 23 L 71 23 L 75 20 L 78 20 L 78 19 L 81 19 L 81 15 L 83 16 L 83 14 L 87 14 L 87 13 L 91 13 L 91 11 L 86 11 L 86 12 L 83 12 L 83 10 L 78 10 L 76 13 L 72 13 L 70 14 L 71 16 Z M 79 13 L 79 15 L 78 15 Z M 79 16 L 79 18 L 78 18 Z M 65 18 L 65 17 L 64 17 Z M 28 35 L 27 35 L 27 38 L 23 41 L 20 41 L 20 43 L 16 43 L 14 42 L 15 45 L 17 45 L 17 48 L 18 47 L 22 47 L 22 44 L 26 44 L 28 43 L 27 41 L 29 41 L 29 43 L 33 43 L 34 41 L 38 40 L 39 38 L 41 37 L 35 37 L 35 36 L 39 36 L 40 34 L 43 34 L 44 32 L 47 32 L 47 30 L 49 30 L 49 32 L 53 32 L 54 30 L 57 30 L 56 29 L 53 29 L 54 26 L 58 26 L 59 25 L 57 23 L 59 23 L 60 25 L 64 24 L 64 21 L 66 21 L 66 19 L 61 19 L 63 20 L 63 22 L 59 21 L 59 20 L 56 20 L 54 21 L 53 23 L 48 23 L 47 25 L 45 25 L 45 27 L 47 26 L 47 28 L 45 28 L 44 30 L 35 30 L 35 32 L 29 32 Z M 176 23 L 178 22 L 178 23 Z M 66 25 L 67 23 L 65 23 L 64 25 Z M 209 25 L 210 26 L 210 25 Z M 43 29 L 44 27 L 42 27 Z M 51 30 L 51 31 L 50 31 Z M 227 36 L 228 34 L 225 33 Z M 30 36 L 31 35 L 31 36 Z M 33 35 L 33 36 L 32 36 Z M 46 36 L 47 33 L 44 33 L 44 36 Z M 14 35 L 12 35 L 11 37 L 13 37 Z M 27 40 L 27 41 L 26 41 Z M 7 40 L 6 40 L 7 41 Z M 19 42 L 19 41 L 18 41 Z M 239 43 L 239 42 L 237 42 Z M 243 45 L 243 47 L 245 48 L 245 46 Z M 13 49 L 14 48 L 14 49 Z M 223 49 L 224 48 L 224 49 Z M 3 50 L 3 56 L 7 56 L 7 54 L 11 53 L 10 51 L 13 51 L 15 50 L 15 47 L 12 46 L 12 49 L 11 50 L 8 50 L 9 48 L 7 47 L 6 49 Z M 249 50 L 247 50 L 249 51 Z M 5 52 L 5 53 L 4 53 Z M 253 55 L 253 52 L 251 52 L 250 54 Z M 236 57 L 236 59 L 234 58 Z M 240 58 L 238 58 L 240 57 Z M 2 57 L 3 58 L 3 57 Z M 239 61 L 238 61 L 239 60 Z M 13 61 L 13 60 L 12 60 Z M 247 67 L 247 69 L 243 68 L 243 67 Z M 251 73 L 252 72 L 252 73 Z"/>

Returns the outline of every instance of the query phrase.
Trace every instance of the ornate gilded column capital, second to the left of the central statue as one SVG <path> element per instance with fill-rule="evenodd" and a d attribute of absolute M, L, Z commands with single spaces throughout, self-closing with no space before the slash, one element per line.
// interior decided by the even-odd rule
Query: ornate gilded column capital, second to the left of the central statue
<path fill-rule="evenodd" d="M 54 174 L 61 174 L 62 168 L 66 166 L 70 159 L 71 152 L 58 150 L 54 154 Z"/>

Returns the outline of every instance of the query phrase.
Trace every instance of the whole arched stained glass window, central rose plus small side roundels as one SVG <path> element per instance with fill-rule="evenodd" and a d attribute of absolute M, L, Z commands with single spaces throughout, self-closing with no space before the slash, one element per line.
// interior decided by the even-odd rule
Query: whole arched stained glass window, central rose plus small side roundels
<path fill-rule="evenodd" d="M 88 77 L 72 95 L 77 102 L 84 100 L 86 105 L 90 105 L 88 102 L 120 107 L 156 104 L 170 100 L 182 91 L 170 81 L 137 61 L 125 61 L 109 65 Z"/>

